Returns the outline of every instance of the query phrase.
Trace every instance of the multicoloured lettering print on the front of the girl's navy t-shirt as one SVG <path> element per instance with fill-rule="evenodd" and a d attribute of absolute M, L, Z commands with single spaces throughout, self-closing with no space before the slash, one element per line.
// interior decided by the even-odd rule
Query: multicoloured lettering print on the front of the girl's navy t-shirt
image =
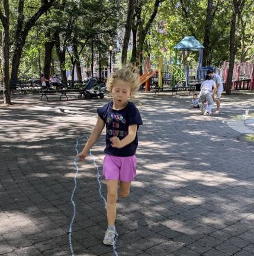
<path fill-rule="evenodd" d="M 123 138 L 128 134 L 126 131 L 126 119 L 121 114 L 110 113 L 107 117 L 106 124 L 107 134 L 110 136 Z"/>

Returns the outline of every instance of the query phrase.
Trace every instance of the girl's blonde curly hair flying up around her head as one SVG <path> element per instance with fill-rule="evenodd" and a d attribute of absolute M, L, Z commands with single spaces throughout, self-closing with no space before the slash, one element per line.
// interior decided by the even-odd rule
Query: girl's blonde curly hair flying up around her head
<path fill-rule="evenodd" d="M 124 65 L 108 77 L 107 89 L 112 92 L 115 80 L 123 80 L 131 85 L 131 92 L 134 93 L 140 88 L 139 68 L 131 64 Z"/>

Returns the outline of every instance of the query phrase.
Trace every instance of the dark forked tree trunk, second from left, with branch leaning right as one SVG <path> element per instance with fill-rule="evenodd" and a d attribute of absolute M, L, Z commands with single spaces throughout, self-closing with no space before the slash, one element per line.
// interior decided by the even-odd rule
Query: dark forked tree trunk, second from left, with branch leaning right
<path fill-rule="evenodd" d="M 11 68 L 11 81 L 18 80 L 18 68 L 20 66 L 20 59 L 22 55 L 22 49 L 25 44 L 25 40 L 27 39 L 28 32 L 31 28 L 36 24 L 38 18 L 44 14 L 50 7 L 52 7 L 54 0 L 49 1 L 42 1 L 41 7 L 37 10 L 37 12 L 27 21 L 24 23 L 24 0 L 19 1 L 18 5 L 18 20 L 17 20 L 17 28 L 15 34 L 15 41 L 14 41 L 14 55 L 12 57 L 12 68 Z"/>

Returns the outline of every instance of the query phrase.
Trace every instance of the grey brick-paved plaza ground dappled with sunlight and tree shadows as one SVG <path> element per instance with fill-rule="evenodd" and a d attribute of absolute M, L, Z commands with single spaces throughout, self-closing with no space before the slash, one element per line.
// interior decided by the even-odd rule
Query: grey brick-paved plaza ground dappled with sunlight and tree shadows
<path fill-rule="evenodd" d="M 76 139 L 91 132 L 108 97 L 37 100 L 0 106 L 0 255 L 71 255 Z M 139 94 L 136 102 L 144 121 L 139 175 L 118 203 L 118 255 L 254 255 L 254 146 L 226 124 L 253 108 L 253 94 L 227 97 L 213 117 L 200 116 L 189 97 Z M 100 169 L 103 147 L 102 136 L 92 149 Z M 92 158 L 79 168 L 73 251 L 114 255 L 102 244 L 106 216 Z"/>

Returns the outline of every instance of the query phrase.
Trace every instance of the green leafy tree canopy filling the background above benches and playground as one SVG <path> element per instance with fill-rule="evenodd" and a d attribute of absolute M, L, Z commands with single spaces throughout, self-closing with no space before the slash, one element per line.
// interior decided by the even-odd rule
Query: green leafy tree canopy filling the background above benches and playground
<path fill-rule="evenodd" d="M 108 46 L 122 63 L 172 55 L 184 36 L 205 47 L 203 65 L 253 61 L 253 0 L 4 0 L 0 4 L 1 81 L 46 76 L 55 66 L 81 75 L 81 65 L 108 66 Z M 7 38 L 8 37 L 8 38 Z M 113 56 L 115 55 L 113 51 Z M 182 52 L 184 65 L 197 53 Z M 8 61 L 9 63 L 8 63 Z M 8 67 L 6 66 L 8 65 Z M 76 69 L 75 69 L 76 68 Z M 8 72 L 9 74 L 8 74 Z M 8 87 L 9 90 L 9 87 Z M 7 91 L 8 91 L 7 90 Z"/>

